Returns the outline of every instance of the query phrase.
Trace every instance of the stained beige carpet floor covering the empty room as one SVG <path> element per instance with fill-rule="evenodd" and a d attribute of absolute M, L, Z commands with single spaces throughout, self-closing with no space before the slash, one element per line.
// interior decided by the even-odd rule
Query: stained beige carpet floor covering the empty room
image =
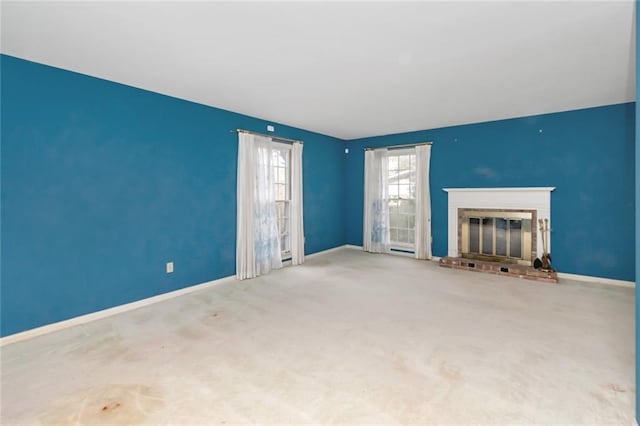
<path fill-rule="evenodd" d="M 634 294 L 344 248 L 5 345 L 0 420 L 630 425 Z"/>

